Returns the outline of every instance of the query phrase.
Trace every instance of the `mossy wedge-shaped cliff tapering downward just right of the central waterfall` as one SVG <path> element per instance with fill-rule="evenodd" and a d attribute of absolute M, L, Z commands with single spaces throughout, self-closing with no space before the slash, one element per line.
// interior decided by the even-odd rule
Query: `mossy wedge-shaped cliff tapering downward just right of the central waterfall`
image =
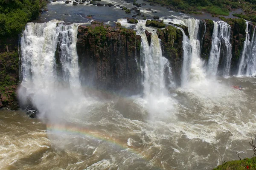
<path fill-rule="evenodd" d="M 163 56 L 170 61 L 175 82 L 180 85 L 183 64 L 183 33 L 174 26 L 167 26 L 163 30 L 158 29 L 157 35 L 162 40 Z"/>

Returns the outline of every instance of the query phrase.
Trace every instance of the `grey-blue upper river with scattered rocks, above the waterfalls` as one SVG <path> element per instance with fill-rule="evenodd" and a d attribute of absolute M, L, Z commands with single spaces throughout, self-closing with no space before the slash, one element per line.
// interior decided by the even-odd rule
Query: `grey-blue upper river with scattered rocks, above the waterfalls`
<path fill-rule="evenodd" d="M 122 0 L 101 0 L 96 3 L 108 4 L 112 3 L 115 7 L 108 6 L 96 6 L 93 4 L 89 4 L 88 2 L 84 4 L 77 4 L 77 6 L 73 6 L 72 3 L 65 4 L 66 0 L 57 0 L 56 2 L 49 3 L 47 8 L 49 11 L 43 12 L 41 17 L 35 22 L 44 23 L 49 20 L 62 20 L 64 22 L 72 22 L 72 23 L 87 23 L 89 20 L 97 20 L 101 22 L 108 21 L 117 21 L 120 18 L 131 18 L 133 15 L 137 13 L 135 11 L 131 11 L 130 14 L 125 13 L 125 11 L 120 8 L 120 6 L 125 6 L 126 8 L 134 8 L 132 3 L 126 3 Z M 154 16 L 159 17 L 167 17 L 173 18 L 175 16 L 180 17 L 195 17 L 197 19 L 211 19 L 211 20 L 219 20 L 218 17 L 212 17 L 212 14 L 208 14 L 204 12 L 204 14 L 183 14 L 180 12 L 172 11 L 165 7 L 162 7 L 158 4 L 154 4 L 154 6 L 150 6 L 148 2 L 143 0 L 137 0 L 136 3 L 146 3 L 145 6 L 137 7 L 140 9 L 141 15 L 145 15 L 147 19 L 152 19 Z M 88 5 L 86 5 L 88 4 Z M 119 5 L 119 6 L 116 6 Z M 147 9 L 151 10 L 148 11 Z M 243 12 L 241 9 L 236 9 L 230 12 L 229 16 L 224 16 L 228 18 L 236 18 L 232 14 Z M 91 16 L 91 17 L 88 17 Z M 137 15 L 137 19 L 143 19 L 140 15 Z"/>

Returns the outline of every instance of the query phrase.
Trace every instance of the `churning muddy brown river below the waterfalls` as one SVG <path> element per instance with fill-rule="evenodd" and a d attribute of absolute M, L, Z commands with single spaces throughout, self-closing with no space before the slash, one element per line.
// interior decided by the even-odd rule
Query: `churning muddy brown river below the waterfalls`
<path fill-rule="evenodd" d="M 0 169 L 210 170 L 238 159 L 236 150 L 253 155 L 256 78 L 208 79 L 151 107 L 140 96 L 99 93 L 108 97 L 84 94 L 60 117 L 58 108 L 37 119 L 0 110 Z"/>

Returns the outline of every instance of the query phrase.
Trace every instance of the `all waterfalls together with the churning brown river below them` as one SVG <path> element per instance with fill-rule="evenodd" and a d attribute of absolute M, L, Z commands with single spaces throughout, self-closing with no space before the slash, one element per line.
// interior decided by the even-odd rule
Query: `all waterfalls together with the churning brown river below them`
<path fill-rule="evenodd" d="M 20 40 L 18 92 L 20 101 L 32 103 L 40 114 L 30 119 L 23 111 L 0 111 L 0 169 L 210 170 L 238 159 L 236 150 L 252 156 L 256 78 L 216 77 L 221 58 L 225 74 L 219 75 L 230 71 L 230 26 L 214 22 L 205 65 L 200 58 L 204 23 L 164 20 L 170 21 L 189 28 L 189 37 L 182 30 L 181 88 L 174 88 L 155 28 L 142 20 L 136 26 L 119 20 L 142 38 L 143 95 L 130 97 L 81 86 L 78 23 L 28 23 Z M 145 29 L 152 34 L 150 45 Z M 244 46 L 251 50 L 243 51 L 240 74 L 256 72 L 254 31 L 250 42 L 247 28 Z M 232 84 L 245 88 L 231 89 Z"/>

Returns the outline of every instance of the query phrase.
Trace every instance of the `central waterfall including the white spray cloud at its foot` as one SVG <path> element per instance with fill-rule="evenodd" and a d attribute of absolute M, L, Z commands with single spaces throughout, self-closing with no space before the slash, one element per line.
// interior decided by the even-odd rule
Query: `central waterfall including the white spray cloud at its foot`
<path fill-rule="evenodd" d="M 155 31 L 151 31 L 151 44 L 148 44 L 147 37 L 143 30 L 141 35 L 142 48 L 141 57 L 143 57 L 143 101 L 139 101 L 144 105 L 147 111 L 150 113 L 150 119 L 164 119 L 166 116 L 170 116 L 173 111 L 169 92 L 167 87 L 172 85 L 172 72 L 168 59 L 162 56 L 162 50 L 160 40 Z M 169 75 L 165 75 L 165 71 L 168 69 Z M 165 76 L 169 79 L 166 82 Z M 170 84 L 167 84 L 170 83 Z"/>

